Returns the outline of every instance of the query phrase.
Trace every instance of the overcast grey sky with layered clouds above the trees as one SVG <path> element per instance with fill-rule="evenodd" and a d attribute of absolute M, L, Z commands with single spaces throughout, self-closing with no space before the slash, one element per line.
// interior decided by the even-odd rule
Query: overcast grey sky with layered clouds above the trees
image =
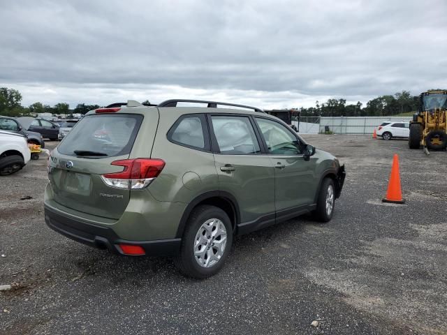
<path fill-rule="evenodd" d="M 22 105 L 307 107 L 447 87 L 446 0 L 15 0 L 0 22 L 0 86 Z"/>

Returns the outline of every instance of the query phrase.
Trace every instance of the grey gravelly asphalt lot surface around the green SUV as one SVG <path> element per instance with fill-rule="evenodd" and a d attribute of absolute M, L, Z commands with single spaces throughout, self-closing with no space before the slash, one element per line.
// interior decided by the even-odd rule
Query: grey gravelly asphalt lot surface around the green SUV
<path fill-rule="evenodd" d="M 446 152 L 304 137 L 346 163 L 332 221 L 302 217 L 238 237 L 207 281 L 47 228 L 45 159 L 1 178 L 0 285 L 13 289 L 0 292 L 0 333 L 447 334 Z M 395 153 L 404 205 L 381 203 Z"/>

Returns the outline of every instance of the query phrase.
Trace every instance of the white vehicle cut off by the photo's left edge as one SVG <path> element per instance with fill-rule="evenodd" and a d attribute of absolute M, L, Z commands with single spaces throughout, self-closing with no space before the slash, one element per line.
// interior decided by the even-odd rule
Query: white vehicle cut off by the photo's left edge
<path fill-rule="evenodd" d="M 27 137 L 0 131 L 0 176 L 21 170 L 30 158 L 31 151 L 28 148 Z"/>

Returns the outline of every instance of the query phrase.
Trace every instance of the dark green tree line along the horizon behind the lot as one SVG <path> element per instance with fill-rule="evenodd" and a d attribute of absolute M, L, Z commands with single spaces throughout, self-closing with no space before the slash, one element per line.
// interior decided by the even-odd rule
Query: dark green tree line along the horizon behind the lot
<path fill-rule="evenodd" d="M 0 88 L 0 115 L 18 117 L 38 113 L 51 114 L 85 114 L 94 110 L 99 105 L 88 105 L 78 103 L 71 110 L 68 103 L 57 103 L 54 106 L 44 105 L 41 102 L 33 103 L 27 107 L 22 106 L 22 94 L 17 89 Z M 356 104 L 346 105 L 346 99 L 328 99 L 325 103 L 316 101 L 315 107 L 301 107 L 294 109 L 295 113 L 300 111 L 301 116 L 313 117 L 383 117 L 391 116 L 417 110 L 418 101 L 414 101 L 409 91 L 402 91 L 394 95 L 379 96 L 367 102 L 364 107 L 360 101 Z"/>

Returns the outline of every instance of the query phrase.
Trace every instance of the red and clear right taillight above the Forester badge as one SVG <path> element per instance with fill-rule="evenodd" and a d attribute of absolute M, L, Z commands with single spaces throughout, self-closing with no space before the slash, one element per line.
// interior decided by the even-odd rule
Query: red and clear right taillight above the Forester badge
<path fill-rule="evenodd" d="M 165 167 L 165 162 L 155 158 L 135 158 L 114 161 L 112 165 L 124 166 L 124 170 L 101 175 L 105 184 L 130 190 L 151 184 Z"/>

